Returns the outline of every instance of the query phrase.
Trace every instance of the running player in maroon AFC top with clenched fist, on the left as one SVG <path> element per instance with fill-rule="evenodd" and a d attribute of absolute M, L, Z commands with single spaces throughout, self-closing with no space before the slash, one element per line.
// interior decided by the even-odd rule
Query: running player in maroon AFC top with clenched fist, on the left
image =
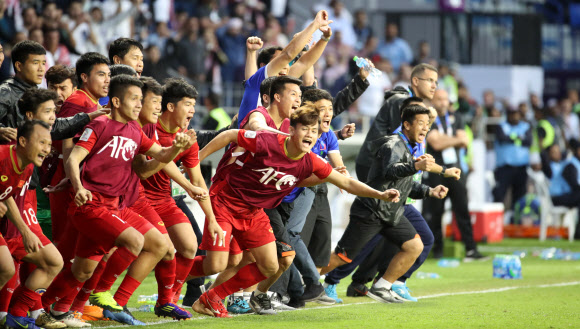
<path fill-rule="evenodd" d="M 132 160 L 143 153 L 167 163 L 189 143 L 188 135 L 177 134 L 172 146 L 162 148 L 145 136 L 135 121 L 141 110 L 142 86 L 138 79 L 126 75 L 111 79 L 111 117 L 101 117 L 89 124 L 69 156 L 67 176 L 75 190 L 69 217 L 79 237 L 72 267 L 61 272 L 43 295 L 47 310 L 57 299 L 80 289 L 113 246 L 118 247 L 111 269 L 113 276 L 121 274 L 137 258 L 144 239 L 128 222 L 138 215 L 119 209 L 121 197 L 130 193 L 127 188 L 132 177 Z M 57 319 L 69 314 L 64 309 L 53 309 L 51 313 Z"/>

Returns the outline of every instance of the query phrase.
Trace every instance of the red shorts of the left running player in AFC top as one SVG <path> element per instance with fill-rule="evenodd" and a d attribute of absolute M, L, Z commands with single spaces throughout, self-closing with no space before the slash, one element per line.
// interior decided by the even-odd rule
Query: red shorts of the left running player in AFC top
<path fill-rule="evenodd" d="M 119 211 L 119 198 L 92 192 L 93 201 L 81 207 L 74 203 L 69 206 L 71 223 L 79 232 L 75 256 L 100 260 L 115 246 L 115 241 L 123 231 L 132 227 L 123 219 Z M 129 216 L 133 212 L 127 212 Z M 130 221 L 138 219 L 132 218 Z"/>

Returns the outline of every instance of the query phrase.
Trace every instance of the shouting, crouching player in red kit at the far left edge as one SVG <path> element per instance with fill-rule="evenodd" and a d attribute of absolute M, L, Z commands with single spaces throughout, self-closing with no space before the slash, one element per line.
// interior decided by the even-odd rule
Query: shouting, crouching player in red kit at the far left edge
<path fill-rule="evenodd" d="M 49 125 L 39 120 L 27 120 L 18 128 L 18 138 L 16 146 L 2 147 L 2 161 L 5 162 L 3 168 L 9 169 L 11 173 L 4 174 L 0 179 L 0 188 L 3 193 L 0 200 L 7 208 L 7 217 L 16 225 L 21 232 L 20 237 L 15 237 L 8 241 L 9 248 L 17 259 L 33 263 L 37 269 L 32 273 L 15 291 L 5 326 L 8 328 L 27 328 L 29 325 L 35 326 L 35 320 L 27 317 L 28 311 L 41 298 L 41 294 L 61 270 L 62 257 L 50 243 L 42 231 L 39 233 L 29 229 L 22 220 L 19 208 L 12 197 L 16 193 L 22 194 L 26 191 L 26 186 L 34 165 L 40 166 L 44 158 L 50 153 L 51 138 Z M 24 198 L 21 198 L 24 201 Z M 3 266 L 7 264 L 2 261 Z M 63 325 L 61 324 L 62 328 Z"/>

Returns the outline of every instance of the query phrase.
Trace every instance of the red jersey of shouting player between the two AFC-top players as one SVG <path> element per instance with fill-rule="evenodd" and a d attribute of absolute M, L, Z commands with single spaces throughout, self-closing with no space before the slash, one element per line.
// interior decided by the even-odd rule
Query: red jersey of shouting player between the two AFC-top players
<path fill-rule="evenodd" d="M 168 147 L 173 144 L 175 135 L 180 131 L 178 129 L 175 132 L 169 132 L 163 127 L 161 122 L 157 122 L 155 130 L 147 128 L 145 133 L 147 136 L 157 134 L 157 139 L 159 144 L 163 147 Z M 189 149 L 184 150 L 179 153 L 173 161 L 177 162 L 181 160 L 181 163 L 186 168 L 194 168 L 199 164 L 199 146 L 197 143 L 193 144 Z M 147 180 L 142 181 L 143 187 L 147 193 L 147 198 L 152 203 L 158 203 L 159 201 L 171 199 L 171 180 L 165 171 L 160 170 L 155 175 L 147 178 Z"/>

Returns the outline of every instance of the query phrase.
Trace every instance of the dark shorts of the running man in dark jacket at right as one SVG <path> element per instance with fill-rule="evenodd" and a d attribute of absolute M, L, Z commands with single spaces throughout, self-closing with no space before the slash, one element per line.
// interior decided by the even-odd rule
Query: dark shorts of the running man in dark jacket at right
<path fill-rule="evenodd" d="M 350 263 L 375 235 L 381 234 L 399 248 L 407 241 L 419 237 L 407 218 L 401 216 L 396 225 L 375 216 L 368 208 L 353 203 L 350 222 L 336 246 L 335 253 Z"/>

